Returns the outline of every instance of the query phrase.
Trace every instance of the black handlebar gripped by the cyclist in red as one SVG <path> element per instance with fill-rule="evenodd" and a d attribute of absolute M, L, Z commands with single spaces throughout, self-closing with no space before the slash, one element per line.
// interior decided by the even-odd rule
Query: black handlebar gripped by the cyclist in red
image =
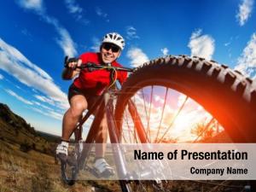
<path fill-rule="evenodd" d="M 65 61 L 64 61 L 64 67 L 67 67 L 67 61 L 78 61 L 78 59 L 76 58 L 72 58 L 68 60 L 68 57 L 65 57 Z M 108 69 L 108 70 L 114 70 L 114 71 L 123 71 L 123 72 L 133 72 L 134 69 L 133 68 L 129 68 L 129 67 L 114 67 L 114 66 L 107 66 L 107 65 L 97 65 L 95 63 L 92 62 L 87 62 L 87 63 L 82 63 L 80 67 L 76 67 L 79 69 L 85 69 L 88 68 L 90 69 Z"/>

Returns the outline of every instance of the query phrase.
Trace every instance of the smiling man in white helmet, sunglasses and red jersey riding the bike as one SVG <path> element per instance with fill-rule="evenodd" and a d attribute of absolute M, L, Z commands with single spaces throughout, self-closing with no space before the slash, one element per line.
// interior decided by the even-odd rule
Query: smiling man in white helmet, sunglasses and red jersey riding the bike
<path fill-rule="evenodd" d="M 73 84 L 68 90 L 68 101 L 70 108 L 64 114 L 62 121 L 62 137 L 61 143 L 56 148 L 57 157 L 61 160 L 67 160 L 67 148 L 69 138 L 73 134 L 79 119 L 84 110 L 91 108 L 96 101 L 97 96 L 101 96 L 104 89 L 106 89 L 112 82 L 110 79 L 110 72 L 108 70 L 80 70 L 82 64 L 88 62 L 111 65 L 114 67 L 122 67 L 116 60 L 121 55 L 121 51 L 125 47 L 125 40 L 119 33 L 110 32 L 102 39 L 99 53 L 84 53 L 79 56 L 79 59 L 69 59 L 67 67 L 62 73 L 62 79 L 74 79 Z M 117 72 L 117 79 L 120 84 L 123 84 L 127 78 L 126 72 Z M 104 159 L 106 145 L 108 139 L 108 125 L 106 113 L 103 114 L 102 122 L 99 125 L 99 131 L 96 133 L 96 157 L 94 168 L 102 175 L 109 175 L 113 173 L 112 167 L 108 165 Z"/>

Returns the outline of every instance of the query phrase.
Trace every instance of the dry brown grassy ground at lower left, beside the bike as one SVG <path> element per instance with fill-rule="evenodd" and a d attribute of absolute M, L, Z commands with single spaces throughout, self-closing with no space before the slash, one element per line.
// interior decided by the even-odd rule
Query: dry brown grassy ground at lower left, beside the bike
<path fill-rule="evenodd" d="M 60 176 L 54 157 L 33 150 L 24 153 L 18 145 L 0 140 L 0 192 L 119 191 L 117 183 L 108 181 L 79 181 L 70 187 Z"/>

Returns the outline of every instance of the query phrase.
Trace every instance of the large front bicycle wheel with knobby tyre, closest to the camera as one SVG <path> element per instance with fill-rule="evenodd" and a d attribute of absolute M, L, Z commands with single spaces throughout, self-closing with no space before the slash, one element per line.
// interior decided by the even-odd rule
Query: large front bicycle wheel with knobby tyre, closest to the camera
<path fill-rule="evenodd" d="M 154 96 L 155 90 L 159 92 L 156 96 Z M 171 91 L 174 93 L 170 93 Z M 159 113 L 158 119 L 150 116 L 150 113 L 158 108 L 166 111 L 164 106 L 168 106 L 166 102 L 170 102 L 168 100 L 170 95 L 177 94 L 175 91 L 182 94 L 179 98 L 183 98 L 181 99 L 183 101 L 177 108 L 177 112 L 172 112 L 171 119 L 177 119 L 177 115 L 185 108 L 185 103 L 193 100 L 212 115 L 207 119 L 205 127 L 209 127 L 217 120 L 232 142 L 256 142 L 255 83 L 241 73 L 215 61 L 206 61 L 199 57 L 190 58 L 185 55 L 170 55 L 149 61 L 143 67 L 138 67 L 123 84 L 115 109 L 120 142 L 176 143 L 175 138 L 164 138 L 167 136 L 165 129 L 169 130 L 169 127 L 172 127 L 173 120 L 171 125 L 166 126 L 163 113 Z M 161 106 L 152 102 L 160 101 L 159 97 L 164 98 L 161 100 Z M 131 102 L 134 102 L 137 108 L 141 106 L 137 110 L 137 115 L 145 119 L 140 122 L 141 131 L 131 127 L 131 121 L 134 118 L 129 114 Z M 157 128 L 150 130 L 157 120 L 159 121 Z M 146 139 L 145 136 L 141 136 L 142 132 L 146 134 Z M 143 141 L 142 138 L 144 138 Z M 147 185 L 148 182 L 145 184 L 146 188 Z"/>

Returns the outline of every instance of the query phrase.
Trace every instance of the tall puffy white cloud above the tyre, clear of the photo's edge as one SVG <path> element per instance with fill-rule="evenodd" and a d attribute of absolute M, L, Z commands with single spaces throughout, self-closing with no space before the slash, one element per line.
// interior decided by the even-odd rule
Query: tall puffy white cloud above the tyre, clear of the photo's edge
<path fill-rule="evenodd" d="M 201 56 L 207 60 L 212 59 L 215 49 L 214 39 L 209 35 L 201 35 L 201 30 L 192 33 L 189 41 L 191 56 Z"/>

